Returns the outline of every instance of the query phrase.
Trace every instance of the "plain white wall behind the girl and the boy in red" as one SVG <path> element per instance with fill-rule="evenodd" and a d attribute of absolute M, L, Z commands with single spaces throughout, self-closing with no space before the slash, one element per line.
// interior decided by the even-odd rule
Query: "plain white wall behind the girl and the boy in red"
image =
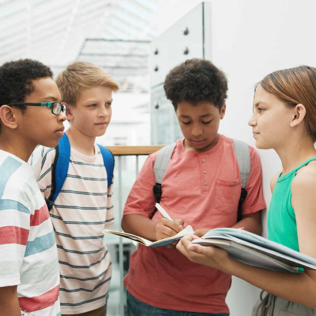
<path fill-rule="evenodd" d="M 182 18 L 201 1 L 161 1 L 158 32 Z M 212 62 L 229 81 L 227 112 L 220 133 L 255 145 L 251 127 L 253 85 L 266 74 L 301 64 L 316 65 L 314 0 L 211 0 Z M 281 169 L 273 150 L 258 150 L 264 197 L 270 203 L 270 179 Z M 266 211 L 263 214 L 267 237 Z M 227 297 L 231 316 L 249 315 L 259 290 L 233 278 Z"/>

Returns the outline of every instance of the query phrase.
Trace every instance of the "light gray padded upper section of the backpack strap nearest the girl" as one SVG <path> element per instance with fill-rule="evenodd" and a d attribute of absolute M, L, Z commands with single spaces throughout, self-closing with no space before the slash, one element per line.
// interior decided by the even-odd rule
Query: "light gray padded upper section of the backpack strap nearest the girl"
<path fill-rule="evenodd" d="M 233 139 L 236 158 L 240 170 L 241 187 L 246 188 L 250 174 L 250 153 L 248 144 L 238 139 Z"/>

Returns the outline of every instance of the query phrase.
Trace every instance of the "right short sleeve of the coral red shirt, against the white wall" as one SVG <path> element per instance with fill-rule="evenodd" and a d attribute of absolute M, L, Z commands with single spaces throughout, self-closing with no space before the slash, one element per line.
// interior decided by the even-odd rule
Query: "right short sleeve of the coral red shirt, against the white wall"
<path fill-rule="evenodd" d="M 249 146 L 250 174 L 246 185 L 247 197 L 242 204 L 242 214 L 251 214 L 266 208 L 262 191 L 262 169 L 257 151 Z"/>

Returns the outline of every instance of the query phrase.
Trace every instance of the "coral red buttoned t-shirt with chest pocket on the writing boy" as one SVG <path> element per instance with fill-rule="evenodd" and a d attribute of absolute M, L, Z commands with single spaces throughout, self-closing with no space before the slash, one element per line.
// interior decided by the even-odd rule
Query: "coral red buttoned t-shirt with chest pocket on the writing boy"
<path fill-rule="evenodd" d="M 231 227 L 237 220 L 241 184 L 234 145 L 220 135 L 210 150 L 185 150 L 179 139 L 162 181 L 160 204 L 172 218 L 184 219 L 184 227 Z M 242 214 L 266 207 L 257 152 L 249 146 L 251 171 Z M 149 155 L 127 198 L 124 215 L 150 217 L 155 209 L 153 166 L 157 153 Z M 156 212 L 152 220 L 159 221 Z M 155 307 L 200 313 L 229 313 L 225 297 L 231 276 L 196 264 L 176 249 L 139 245 L 130 258 L 124 285 L 138 300 Z"/>

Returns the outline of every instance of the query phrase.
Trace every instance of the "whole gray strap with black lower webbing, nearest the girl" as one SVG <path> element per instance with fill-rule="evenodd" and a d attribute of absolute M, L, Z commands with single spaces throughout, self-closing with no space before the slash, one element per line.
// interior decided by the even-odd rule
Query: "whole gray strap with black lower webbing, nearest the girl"
<path fill-rule="evenodd" d="M 241 194 L 238 202 L 237 222 L 241 220 L 241 205 L 247 196 L 246 185 L 250 174 L 250 152 L 248 144 L 238 139 L 232 139 L 234 143 L 235 155 L 238 161 L 240 178 L 241 178 Z"/>

